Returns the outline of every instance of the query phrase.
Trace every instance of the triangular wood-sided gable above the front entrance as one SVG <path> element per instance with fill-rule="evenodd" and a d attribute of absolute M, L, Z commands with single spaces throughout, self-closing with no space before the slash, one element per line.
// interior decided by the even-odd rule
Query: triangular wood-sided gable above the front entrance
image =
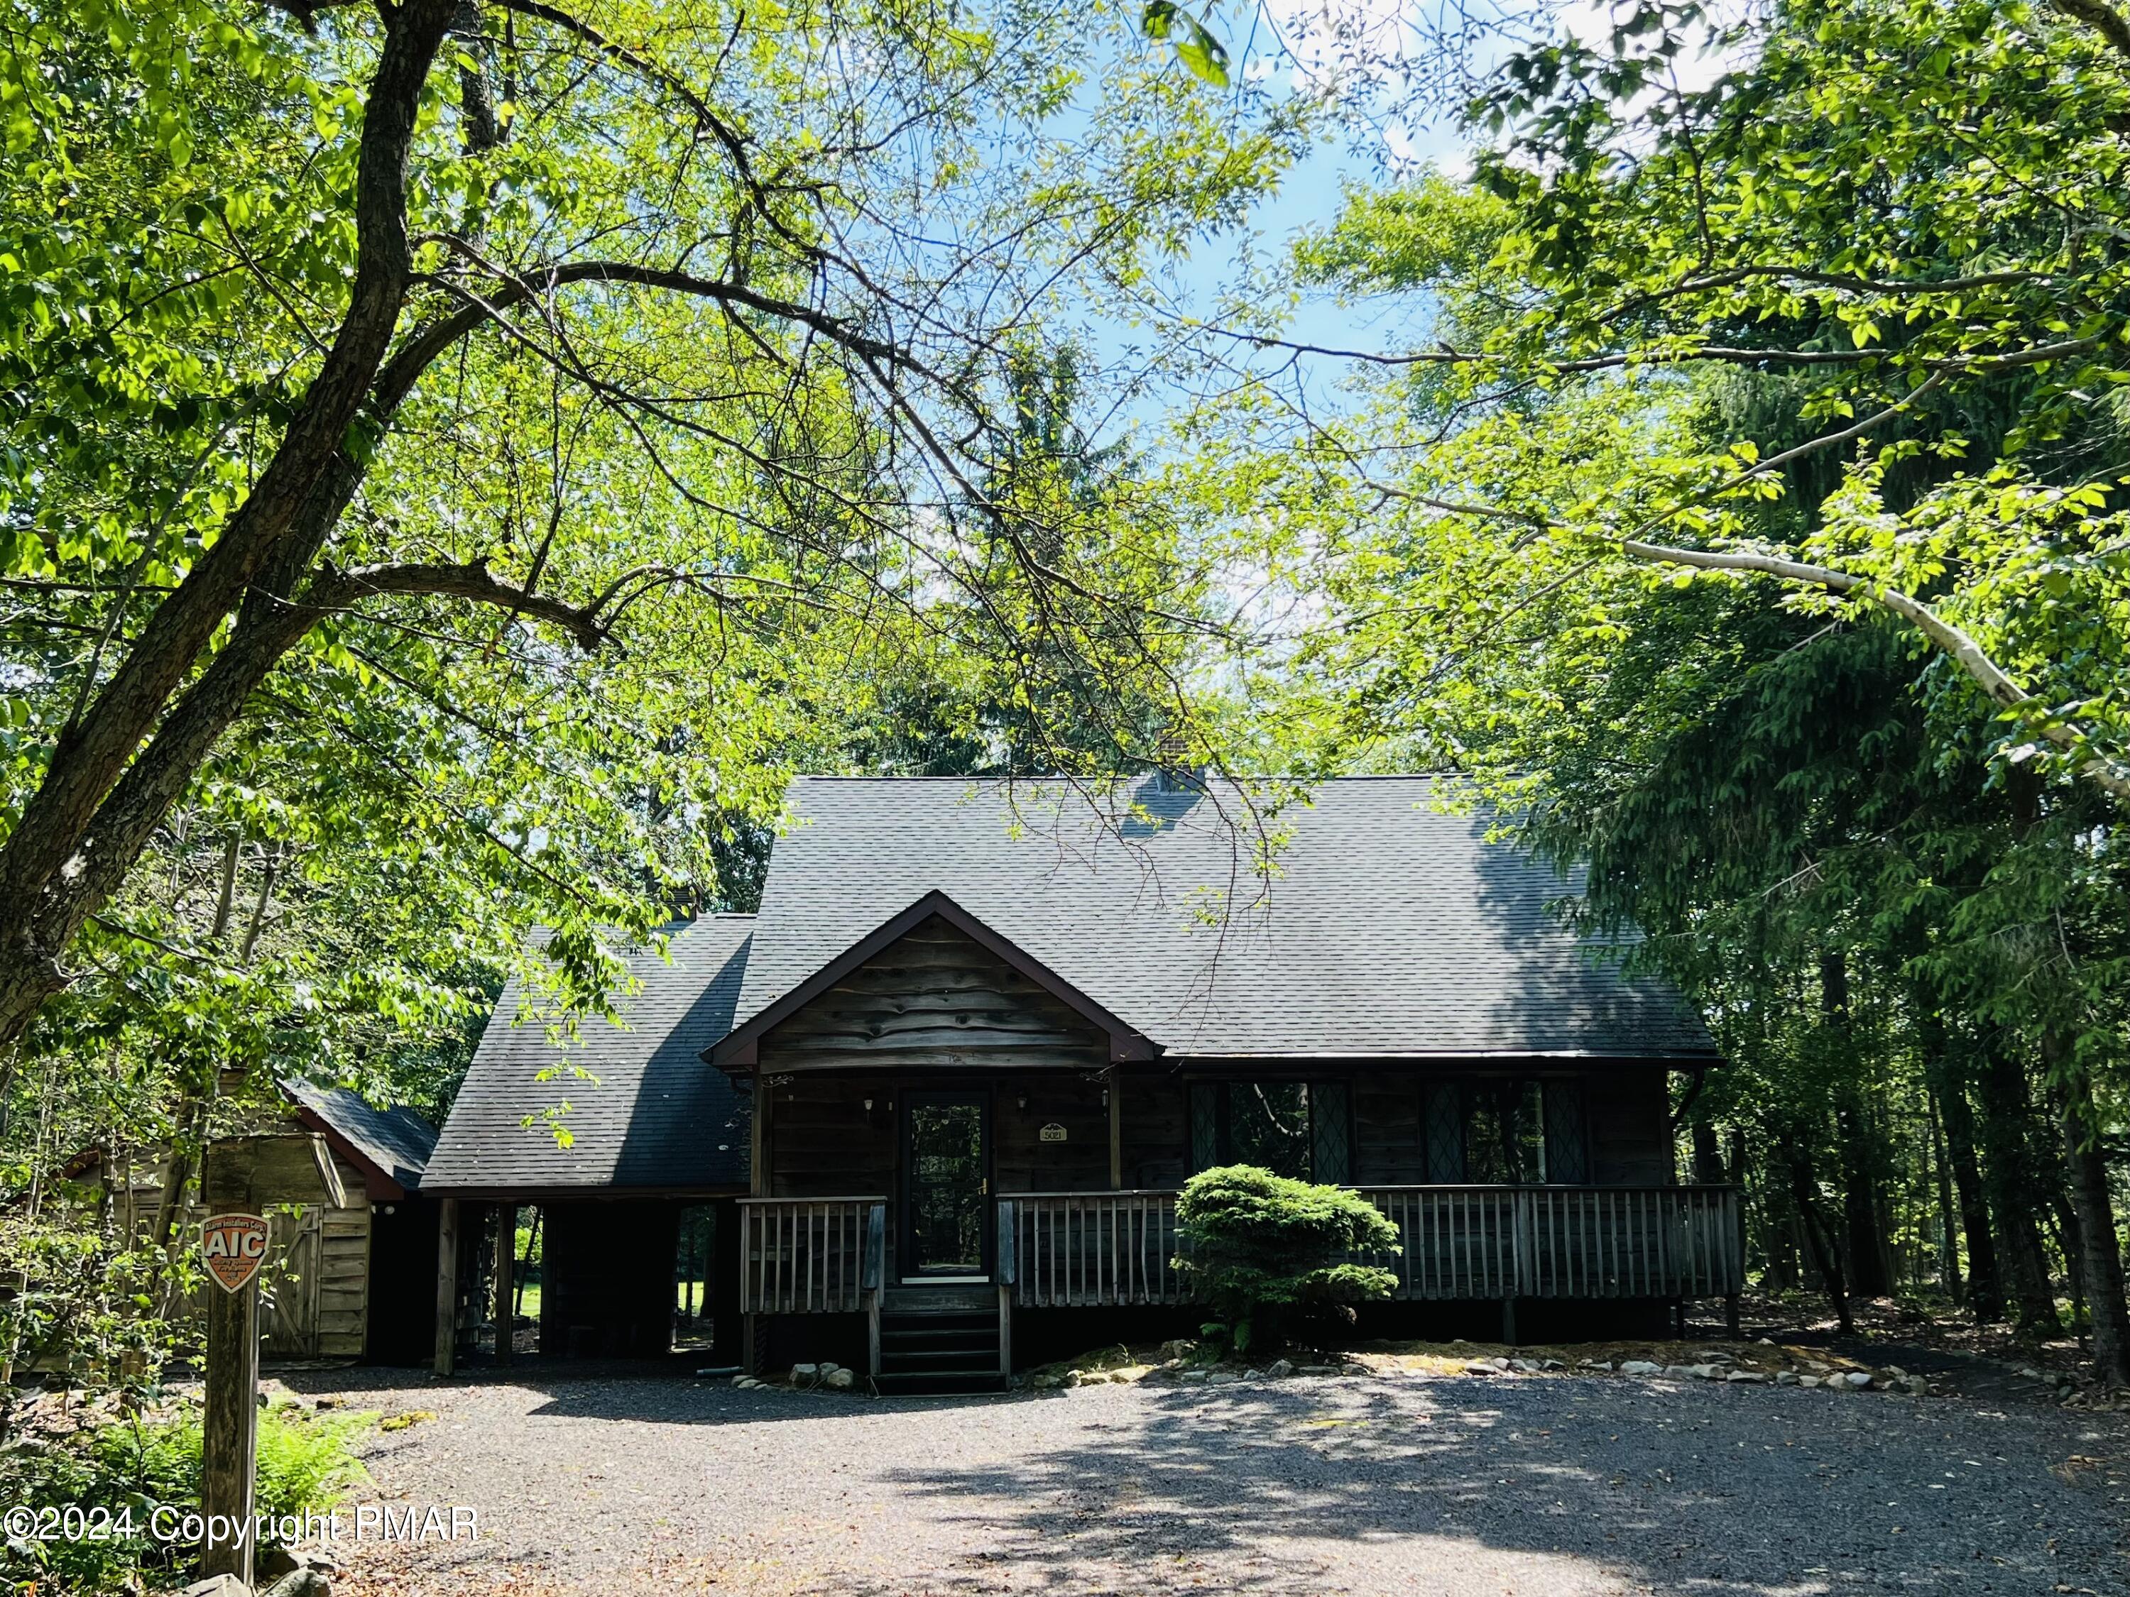
<path fill-rule="evenodd" d="M 1108 1063 L 1099 1031 L 931 918 L 773 1026 L 760 1041 L 758 1069 L 1093 1071 Z"/>

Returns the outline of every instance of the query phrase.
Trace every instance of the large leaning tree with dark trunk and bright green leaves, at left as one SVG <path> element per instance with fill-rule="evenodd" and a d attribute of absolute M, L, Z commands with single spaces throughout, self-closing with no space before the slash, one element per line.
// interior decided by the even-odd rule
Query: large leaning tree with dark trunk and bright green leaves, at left
<path fill-rule="evenodd" d="M 941 590 L 993 641 L 1046 632 L 1033 658 L 1076 643 L 1129 675 L 1116 649 L 1186 639 L 1189 605 L 1046 564 L 971 488 L 1001 437 L 986 353 L 1052 283 L 1225 217 L 1295 124 L 1212 106 L 1080 19 L 17 11 L 0 575 L 30 647 L 0 1043 L 262 709 L 281 730 L 392 684 L 428 741 L 356 758 L 407 790 L 449 786 L 469 739 L 584 771 L 601 737 L 650 732 L 577 807 L 596 837 L 488 794 L 460 816 L 596 992 L 596 928 L 643 931 L 660 896 L 541 856 L 694 813 L 671 756 L 735 732 L 720 696 L 803 675 L 792 643 L 922 635 Z M 993 534 L 1027 598 L 986 609 Z M 550 722 L 558 696 L 605 724 Z"/>

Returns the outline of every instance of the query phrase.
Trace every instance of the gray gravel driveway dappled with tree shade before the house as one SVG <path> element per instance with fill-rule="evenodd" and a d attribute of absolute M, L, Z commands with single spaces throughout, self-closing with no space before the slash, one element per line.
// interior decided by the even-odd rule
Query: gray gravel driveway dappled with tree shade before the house
<path fill-rule="evenodd" d="M 435 1410 L 377 1437 L 358 1501 L 481 1514 L 471 1546 L 354 1552 L 364 1597 L 2130 1593 L 2130 1427 L 2047 1407 L 1591 1376 L 294 1384 Z"/>

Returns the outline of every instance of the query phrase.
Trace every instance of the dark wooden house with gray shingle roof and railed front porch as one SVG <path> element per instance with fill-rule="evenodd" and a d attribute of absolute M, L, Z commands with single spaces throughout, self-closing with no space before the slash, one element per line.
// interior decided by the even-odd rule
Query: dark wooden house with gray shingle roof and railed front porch
<path fill-rule="evenodd" d="M 507 994 L 426 1190 L 545 1205 L 543 1348 L 667 1346 L 711 1205 L 724 1346 L 882 1382 L 1195 1322 L 1174 1197 L 1220 1163 L 1363 1190 L 1408 1318 L 1736 1295 L 1736 1195 L 1674 1182 L 1706 1028 L 1448 796 L 1327 781 L 1259 873 L 1225 784 L 801 779 L 760 913 L 641 956 L 626 1031 Z"/>

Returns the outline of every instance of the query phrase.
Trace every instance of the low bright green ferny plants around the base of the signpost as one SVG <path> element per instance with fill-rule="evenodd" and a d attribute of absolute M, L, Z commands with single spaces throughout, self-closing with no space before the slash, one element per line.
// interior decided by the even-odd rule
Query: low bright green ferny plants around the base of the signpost
<path fill-rule="evenodd" d="M 260 1414 L 258 1512 L 330 1510 L 364 1478 L 356 1437 L 375 1414 L 307 1414 L 283 1405 Z M 0 1446 L 0 1499 L 32 1510 L 70 1503 L 132 1510 L 145 1527 L 158 1503 L 192 1512 L 200 1503 L 200 1414 L 183 1407 L 130 1418 L 98 1418 L 66 1437 L 17 1435 Z M 79 1542 L 6 1542 L 11 1582 L 40 1593 L 109 1597 L 147 1584 L 185 1584 L 192 1548 L 151 1537 Z"/>

